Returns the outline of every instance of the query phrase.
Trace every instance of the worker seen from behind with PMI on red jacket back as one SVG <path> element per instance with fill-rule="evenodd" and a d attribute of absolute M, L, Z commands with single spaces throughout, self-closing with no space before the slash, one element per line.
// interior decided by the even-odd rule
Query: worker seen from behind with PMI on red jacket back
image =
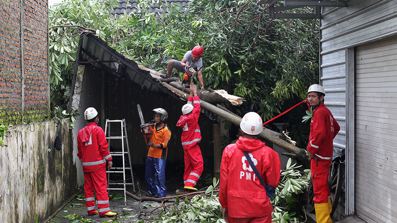
<path fill-rule="evenodd" d="M 257 139 L 263 129 L 260 115 L 245 114 L 240 128 L 243 136 L 226 146 L 222 155 L 219 202 L 223 217 L 226 223 L 271 223 L 270 197 L 273 198 L 280 180 L 280 158 Z"/>

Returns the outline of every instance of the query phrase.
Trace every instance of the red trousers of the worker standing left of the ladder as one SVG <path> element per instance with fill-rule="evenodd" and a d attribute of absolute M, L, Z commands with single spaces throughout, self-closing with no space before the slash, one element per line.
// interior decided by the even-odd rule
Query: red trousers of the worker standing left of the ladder
<path fill-rule="evenodd" d="M 106 169 L 96 172 L 84 172 L 84 196 L 85 206 L 89 215 L 95 213 L 94 190 L 96 191 L 96 202 L 99 216 L 110 211 L 108 184 L 106 180 Z"/>

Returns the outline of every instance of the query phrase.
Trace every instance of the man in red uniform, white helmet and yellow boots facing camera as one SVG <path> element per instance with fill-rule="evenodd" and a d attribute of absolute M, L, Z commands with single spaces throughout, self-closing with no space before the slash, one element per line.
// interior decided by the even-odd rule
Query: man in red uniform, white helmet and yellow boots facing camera
<path fill-rule="evenodd" d="M 318 223 L 332 223 L 328 175 L 332 162 L 333 138 L 340 127 L 330 110 L 324 106 L 324 88 L 321 85 L 311 85 L 307 93 L 308 102 L 314 108 L 309 143 L 306 147 L 312 171 L 314 208 Z"/>

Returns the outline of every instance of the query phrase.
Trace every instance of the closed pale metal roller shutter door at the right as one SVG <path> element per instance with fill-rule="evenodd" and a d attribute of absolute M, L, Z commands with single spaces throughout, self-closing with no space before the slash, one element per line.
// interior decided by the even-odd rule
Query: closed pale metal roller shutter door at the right
<path fill-rule="evenodd" d="M 355 206 L 397 222 L 397 38 L 356 48 Z"/>

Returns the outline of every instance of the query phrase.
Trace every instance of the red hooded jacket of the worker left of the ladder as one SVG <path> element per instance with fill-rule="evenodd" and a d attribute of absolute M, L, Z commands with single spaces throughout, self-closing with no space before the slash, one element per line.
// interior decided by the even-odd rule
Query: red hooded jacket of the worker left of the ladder
<path fill-rule="evenodd" d="M 77 150 L 84 172 L 104 170 L 106 161 L 112 160 L 105 132 L 93 122 L 88 123 L 77 134 Z"/>

